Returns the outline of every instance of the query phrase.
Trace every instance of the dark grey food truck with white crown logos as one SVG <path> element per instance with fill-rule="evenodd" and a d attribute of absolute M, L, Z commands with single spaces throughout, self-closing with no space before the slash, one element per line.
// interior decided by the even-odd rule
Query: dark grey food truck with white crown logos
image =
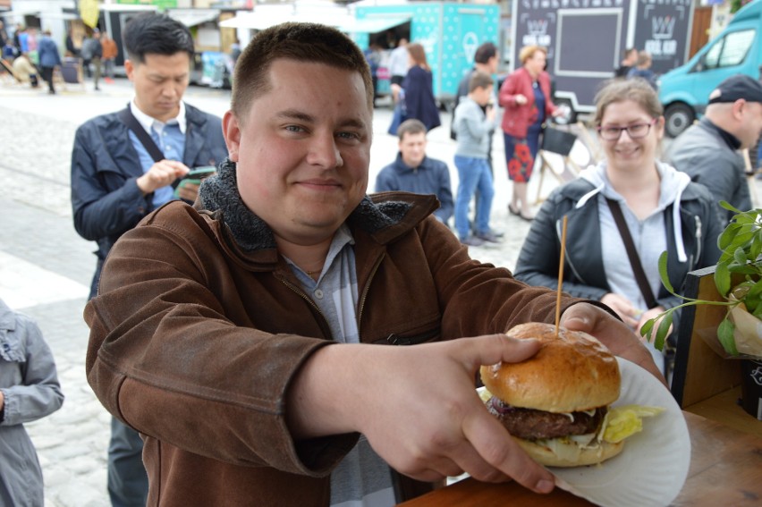
<path fill-rule="evenodd" d="M 522 46 L 547 48 L 555 103 L 595 110 L 600 84 L 614 77 L 628 47 L 646 50 L 657 75 L 682 65 L 690 49 L 693 0 L 515 0 L 512 69 Z"/>

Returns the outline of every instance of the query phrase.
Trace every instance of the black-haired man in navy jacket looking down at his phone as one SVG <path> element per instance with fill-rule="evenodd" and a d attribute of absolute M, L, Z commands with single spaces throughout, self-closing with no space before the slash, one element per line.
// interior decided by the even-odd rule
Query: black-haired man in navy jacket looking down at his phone
<path fill-rule="evenodd" d="M 216 166 L 227 156 L 220 118 L 182 102 L 193 58 L 190 31 L 168 16 L 146 13 L 128 22 L 123 37 L 135 97 L 123 111 L 81 125 L 72 150 L 74 227 L 98 245 L 90 298 L 123 232 L 175 199 L 173 184 L 190 168 Z M 177 195 L 192 202 L 198 190 L 198 184 L 184 184 Z M 113 505 L 145 505 L 140 436 L 113 419 L 108 452 Z"/>

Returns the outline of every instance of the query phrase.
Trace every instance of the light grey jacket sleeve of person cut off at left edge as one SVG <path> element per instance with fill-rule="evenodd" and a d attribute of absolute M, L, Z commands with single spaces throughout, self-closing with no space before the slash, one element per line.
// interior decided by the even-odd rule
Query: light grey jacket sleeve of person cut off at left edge
<path fill-rule="evenodd" d="M 0 426 L 14 426 L 44 418 L 61 408 L 63 393 L 58 383 L 53 354 L 38 326 L 29 318 L 16 314 L 10 362 L 19 364 L 21 384 L 3 387 L 4 408 Z M 7 351 L 0 352 L 5 356 Z"/>

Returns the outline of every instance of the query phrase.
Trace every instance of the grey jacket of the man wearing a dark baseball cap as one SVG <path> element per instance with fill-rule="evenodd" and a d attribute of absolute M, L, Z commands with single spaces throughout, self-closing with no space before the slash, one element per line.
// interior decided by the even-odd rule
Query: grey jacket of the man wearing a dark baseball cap
<path fill-rule="evenodd" d="M 674 139 L 668 155 L 675 169 L 688 173 L 692 181 L 701 183 L 712 192 L 722 226 L 730 221 L 734 213 L 719 206 L 721 200 L 728 201 L 741 211 L 752 208 L 746 163 L 737 148 L 728 144 L 732 142 L 726 140 L 729 135 L 705 116 Z M 741 143 L 738 148 L 740 146 Z"/>

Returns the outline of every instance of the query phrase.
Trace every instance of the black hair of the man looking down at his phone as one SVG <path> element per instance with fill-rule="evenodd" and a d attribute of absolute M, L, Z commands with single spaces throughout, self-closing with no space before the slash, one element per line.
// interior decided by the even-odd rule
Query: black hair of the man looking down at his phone
<path fill-rule="evenodd" d="M 188 27 L 166 14 L 141 13 L 127 21 L 123 33 L 127 57 L 145 63 L 146 55 L 187 53 L 193 58 L 193 36 Z"/>

